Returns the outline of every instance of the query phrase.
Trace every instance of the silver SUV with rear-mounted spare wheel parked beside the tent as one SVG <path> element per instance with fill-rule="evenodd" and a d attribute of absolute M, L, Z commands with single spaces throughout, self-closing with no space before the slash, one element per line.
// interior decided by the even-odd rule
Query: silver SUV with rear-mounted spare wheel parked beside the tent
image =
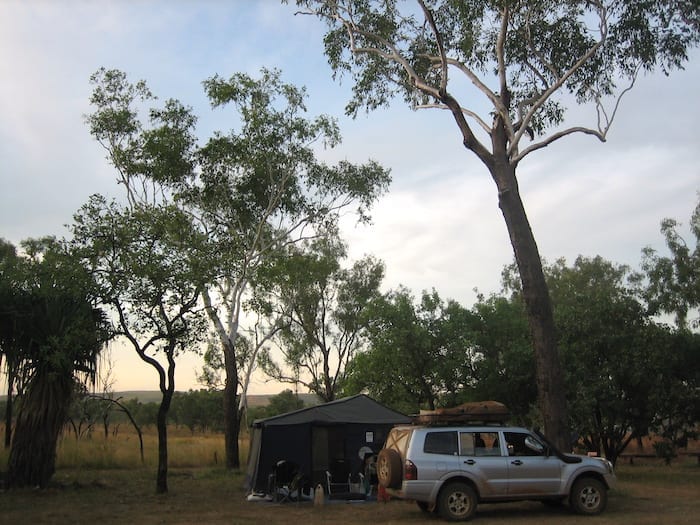
<path fill-rule="evenodd" d="M 539 433 L 508 426 L 394 427 L 377 457 L 386 491 L 421 510 L 468 520 L 480 502 L 566 498 L 581 514 L 599 514 L 615 485 L 606 459 L 562 454 Z"/>

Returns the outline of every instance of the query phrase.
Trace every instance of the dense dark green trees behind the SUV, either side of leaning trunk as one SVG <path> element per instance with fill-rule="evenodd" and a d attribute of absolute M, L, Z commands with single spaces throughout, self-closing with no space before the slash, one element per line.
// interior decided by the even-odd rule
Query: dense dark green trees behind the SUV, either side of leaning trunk
<path fill-rule="evenodd" d="M 615 461 L 650 433 L 673 454 L 700 421 L 700 203 L 695 247 L 665 220 L 673 257 L 645 249 L 643 271 L 601 257 L 545 264 L 561 350 L 568 425 L 586 449 Z M 674 228 L 669 228 L 669 224 Z M 504 269 L 503 290 L 467 309 L 436 292 L 408 290 L 370 308 L 369 349 L 351 364 L 346 393 L 366 390 L 406 412 L 496 399 L 518 423 L 539 425 L 535 360 L 520 281 Z M 678 310 L 678 311 L 677 311 Z M 676 314 L 675 326 L 659 313 Z M 572 440 L 573 441 L 573 440 Z"/>

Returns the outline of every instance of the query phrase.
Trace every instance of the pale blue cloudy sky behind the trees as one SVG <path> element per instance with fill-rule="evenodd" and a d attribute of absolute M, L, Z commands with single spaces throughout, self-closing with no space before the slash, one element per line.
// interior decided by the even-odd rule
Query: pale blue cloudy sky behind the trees
<path fill-rule="evenodd" d="M 386 289 L 435 288 L 465 306 L 475 288 L 498 292 L 512 251 L 485 168 L 447 113 L 397 102 L 344 117 L 349 80 L 332 80 L 322 30 L 276 0 L 0 0 L 0 237 L 67 235 L 91 194 L 120 196 L 84 123 L 98 68 L 120 69 L 161 99 L 192 106 L 206 137 L 232 124 L 209 108 L 202 80 L 276 67 L 306 86 L 310 115 L 338 117 L 343 144 L 323 155 L 372 158 L 392 170 L 373 224 L 347 225 L 352 256 L 383 259 Z M 601 255 L 638 268 L 644 246 L 664 249 L 663 218 L 687 225 L 700 190 L 698 86 L 696 52 L 685 71 L 638 81 L 607 143 L 569 137 L 521 164 L 521 193 L 546 259 Z M 581 109 L 571 116 L 590 121 Z M 115 347 L 112 361 L 117 390 L 156 388 L 155 374 L 130 352 Z M 178 364 L 177 389 L 198 387 L 198 366 L 194 358 Z M 253 386 L 271 389 L 262 379 Z"/>

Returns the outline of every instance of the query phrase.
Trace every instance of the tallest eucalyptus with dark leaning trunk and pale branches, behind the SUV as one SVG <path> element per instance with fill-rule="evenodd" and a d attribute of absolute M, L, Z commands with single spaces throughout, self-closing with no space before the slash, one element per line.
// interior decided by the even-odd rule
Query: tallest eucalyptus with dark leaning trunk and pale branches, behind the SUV
<path fill-rule="evenodd" d="M 445 110 L 498 192 L 535 348 L 545 432 L 566 445 L 552 307 L 518 189 L 521 161 L 576 133 L 607 139 L 644 71 L 682 67 L 700 39 L 697 2 L 665 0 L 296 0 L 328 25 L 335 74 L 354 80 L 349 114 L 402 97 Z M 594 125 L 566 104 L 590 104 Z M 417 128 L 420 133 L 420 128 Z M 526 142 L 526 139 L 529 142 Z"/>

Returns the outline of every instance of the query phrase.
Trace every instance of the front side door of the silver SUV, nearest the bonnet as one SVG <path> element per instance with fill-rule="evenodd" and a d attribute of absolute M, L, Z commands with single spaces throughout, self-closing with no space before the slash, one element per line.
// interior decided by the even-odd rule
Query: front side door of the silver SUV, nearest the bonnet
<path fill-rule="evenodd" d="M 547 496 L 559 492 L 562 462 L 529 432 L 504 432 L 508 451 L 508 495 Z"/>

